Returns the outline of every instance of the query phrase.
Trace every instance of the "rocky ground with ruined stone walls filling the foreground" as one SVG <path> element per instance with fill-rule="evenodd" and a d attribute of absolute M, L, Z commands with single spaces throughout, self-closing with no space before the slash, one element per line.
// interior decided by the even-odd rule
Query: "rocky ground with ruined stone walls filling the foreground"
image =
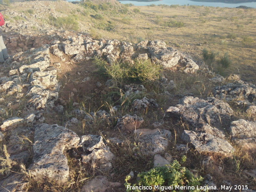
<path fill-rule="evenodd" d="M 256 85 L 212 73 L 163 41 L 53 29 L 5 37 L 15 54 L 0 67 L 0 191 L 125 191 L 126 175 L 134 183 L 182 155 L 202 185 L 256 190 Z M 150 60 L 164 72 L 119 84 L 99 75 L 95 57 Z"/>

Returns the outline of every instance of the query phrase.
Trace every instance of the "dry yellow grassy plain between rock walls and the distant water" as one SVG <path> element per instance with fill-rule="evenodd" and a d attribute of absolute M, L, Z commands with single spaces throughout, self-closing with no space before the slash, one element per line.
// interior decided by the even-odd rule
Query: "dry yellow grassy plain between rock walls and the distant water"
<path fill-rule="evenodd" d="M 98 2 L 99 3 L 99 2 Z M 232 65 L 221 75 L 232 73 L 241 79 L 255 83 L 255 9 L 220 8 L 204 6 L 129 6 L 114 3 L 111 8 L 92 9 L 67 2 L 45 2 L 48 14 L 36 22 L 49 23 L 63 29 L 87 32 L 95 38 L 111 38 L 139 43 L 146 39 L 163 40 L 168 46 L 188 53 L 194 60 L 203 60 L 202 50 L 228 52 Z M 33 11 L 35 3 L 26 6 L 11 5 L 13 11 Z M 30 11 L 31 11 L 30 10 Z M 34 10 L 33 14 L 36 14 Z M 54 13 L 54 14 L 52 14 Z M 16 17 L 15 20 L 21 18 Z M 31 29 L 35 30 L 35 29 Z"/>

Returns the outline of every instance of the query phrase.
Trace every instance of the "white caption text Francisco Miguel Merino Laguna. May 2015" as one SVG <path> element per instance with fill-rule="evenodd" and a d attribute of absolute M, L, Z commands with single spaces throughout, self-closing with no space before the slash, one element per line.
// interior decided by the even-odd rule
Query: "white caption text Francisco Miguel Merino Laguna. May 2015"
<path fill-rule="evenodd" d="M 155 185 L 154 187 L 152 186 L 131 186 L 131 185 L 127 185 L 126 186 L 127 189 L 132 189 L 132 190 L 152 190 L 154 188 L 154 190 L 194 190 L 194 189 L 198 189 L 201 191 L 206 191 L 206 190 L 217 190 L 218 188 L 216 186 L 162 186 L 162 185 Z M 234 187 L 234 188 L 233 188 Z M 229 191 L 231 191 L 231 189 L 248 189 L 247 185 L 235 185 L 235 186 L 226 186 L 226 185 L 221 185 L 220 189 L 227 189 Z"/>

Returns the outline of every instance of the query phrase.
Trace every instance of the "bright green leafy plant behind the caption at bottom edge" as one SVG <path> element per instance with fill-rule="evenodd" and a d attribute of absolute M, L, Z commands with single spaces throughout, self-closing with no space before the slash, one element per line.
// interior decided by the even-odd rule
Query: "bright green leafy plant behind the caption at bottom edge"
<path fill-rule="evenodd" d="M 151 186 L 154 189 L 154 186 L 200 186 L 200 183 L 203 181 L 203 177 L 195 176 L 190 172 L 186 167 L 181 167 L 177 160 L 174 160 L 172 164 L 155 167 L 150 169 L 147 172 L 142 172 L 138 174 L 140 178 L 136 184 L 128 183 L 130 175 L 126 176 L 124 186 L 126 192 L 142 192 L 146 190 L 140 189 L 130 189 L 127 186 Z M 155 190 L 153 190 L 155 191 Z M 160 190 L 159 190 L 160 191 Z M 174 191 L 174 190 L 173 190 Z M 183 191 L 183 190 L 179 190 Z M 199 192 L 200 189 L 191 189 L 190 192 Z M 207 191 L 207 190 L 206 190 Z"/>

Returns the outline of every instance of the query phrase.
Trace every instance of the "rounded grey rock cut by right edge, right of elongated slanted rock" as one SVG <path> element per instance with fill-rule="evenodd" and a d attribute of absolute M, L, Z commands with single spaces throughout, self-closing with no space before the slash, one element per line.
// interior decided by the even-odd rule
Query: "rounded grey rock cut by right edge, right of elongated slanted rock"
<path fill-rule="evenodd" d="M 256 121 L 245 121 L 244 119 L 233 121 L 229 127 L 229 132 L 232 137 L 238 139 L 256 138 Z"/>

